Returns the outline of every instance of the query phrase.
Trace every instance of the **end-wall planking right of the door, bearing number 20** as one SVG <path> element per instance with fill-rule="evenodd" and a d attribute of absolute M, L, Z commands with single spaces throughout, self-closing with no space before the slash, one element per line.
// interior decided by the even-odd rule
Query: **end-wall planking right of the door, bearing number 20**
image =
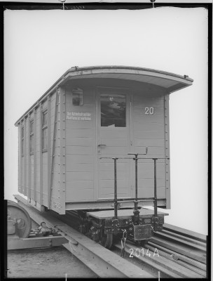
<path fill-rule="evenodd" d="M 153 114 L 149 110 L 153 108 Z M 143 89 L 132 95 L 133 146 L 137 153 L 147 157 L 165 157 L 165 106 L 164 94 L 159 89 Z M 146 114 L 148 113 L 148 114 Z M 139 155 L 139 157 L 144 157 Z M 158 163 L 160 161 L 160 163 Z M 154 196 L 153 160 L 139 159 L 138 162 L 138 197 Z M 133 184 L 133 188 L 135 185 Z M 157 197 L 165 198 L 165 160 L 157 161 Z"/>

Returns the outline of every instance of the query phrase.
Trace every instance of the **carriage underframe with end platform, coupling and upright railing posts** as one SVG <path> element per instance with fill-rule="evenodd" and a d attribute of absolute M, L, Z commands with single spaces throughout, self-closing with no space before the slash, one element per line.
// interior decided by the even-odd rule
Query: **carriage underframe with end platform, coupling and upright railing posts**
<path fill-rule="evenodd" d="M 147 154 L 148 148 L 146 148 Z M 118 157 L 114 160 L 114 210 L 102 211 L 78 211 L 81 217 L 80 231 L 88 235 L 95 242 L 100 242 L 104 247 L 111 248 L 114 238 L 127 238 L 133 242 L 144 244 L 151 239 L 153 232 L 163 229 L 164 216 L 167 215 L 157 211 L 157 182 L 156 182 L 156 161 L 158 158 L 151 158 L 154 162 L 154 197 L 137 198 L 137 162 L 141 157 L 134 153 L 135 161 L 135 198 L 128 200 L 134 203 L 134 209 L 118 209 L 117 198 L 117 176 L 116 164 Z M 162 159 L 162 158 L 160 158 Z M 165 158 L 163 158 L 165 159 Z M 139 202 L 153 200 L 154 210 L 138 207 Z"/>

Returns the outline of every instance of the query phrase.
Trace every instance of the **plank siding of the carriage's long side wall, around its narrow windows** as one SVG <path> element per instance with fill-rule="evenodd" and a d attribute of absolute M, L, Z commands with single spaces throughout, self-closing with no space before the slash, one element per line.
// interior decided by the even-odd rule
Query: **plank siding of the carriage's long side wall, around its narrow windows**
<path fill-rule="evenodd" d="M 27 195 L 28 201 L 39 206 L 47 206 L 50 200 L 50 174 L 51 174 L 51 159 L 53 150 L 53 129 L 55 117 L 55 93 L 51 93 L 49 99 L 38 103 L 36 107 L 29 112 L 28 115 L 18 124 L 19 126 L 19 170 L 18 184 L 19 191 Z M 42 117 L 43 112 L 48 110 L 48 150 L 42 151 Z M 60 122 L 60 110 L 56 115 L 56 121 Z M 30 122 L 34 121 L 34 152 L 30 153 Z M 24 149 L 22 151 L 22 127 L 24 127 Z M 59 126 L 60 128 L 60 123 Z M 57 133 L 60 138 L 60 132 Z M 56 145 L 60 146 L 60 143 Z M 60 155 L 60 151 L 56 148 L 55 152 Z M 57 162 L 57 160 L 56 160 Z M 60 162 L 60 160 L 58 161 Z M 57 163 L 56 163 L 57 164 Z M 53 173 L 58 169 L 54 167 Z M 54 176 L 57 178 L 57 175 Z M 57 182 L 57 190 L 60 182 Z M 49 187 L 49 189 L 48 189 Z M 54 193 L 54 192 L 53 192 Z M 54 196 L 54 195 L 53 195 Z M 58 195 L 57 195 L 58 199 Z"/>

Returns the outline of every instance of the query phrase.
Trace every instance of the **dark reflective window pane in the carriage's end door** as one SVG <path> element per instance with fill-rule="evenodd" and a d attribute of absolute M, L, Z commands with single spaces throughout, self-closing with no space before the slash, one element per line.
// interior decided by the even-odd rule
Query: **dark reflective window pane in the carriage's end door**
<path fill-rule="evenodd" d="M 125 95 L 101 94 L 101 126 L 125 127 Z"/>

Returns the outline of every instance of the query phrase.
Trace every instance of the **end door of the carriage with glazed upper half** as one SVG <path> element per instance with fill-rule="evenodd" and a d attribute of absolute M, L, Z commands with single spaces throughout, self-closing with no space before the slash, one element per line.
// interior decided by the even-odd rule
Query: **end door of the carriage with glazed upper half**
<path fill-rule="evenodd" d="M 97 199 L 114 198 L 114 160 L 128 157 L 130 93 L 128 89 L 97 87 Z M 132 195 L 130 159 L 117 160 L 118 198 Z"/>

